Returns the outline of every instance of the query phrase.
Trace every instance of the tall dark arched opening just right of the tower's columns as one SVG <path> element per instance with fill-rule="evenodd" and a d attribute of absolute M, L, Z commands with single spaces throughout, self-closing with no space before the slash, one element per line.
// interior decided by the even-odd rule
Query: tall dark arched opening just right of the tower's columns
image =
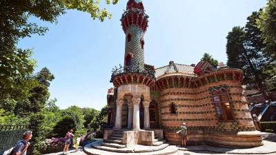
<path fill-rule="evenodd" d="M 157 129 L 159 128 L 159 112 L 158 104 L 155 101 L 150 102 L 150 128 Z"/>

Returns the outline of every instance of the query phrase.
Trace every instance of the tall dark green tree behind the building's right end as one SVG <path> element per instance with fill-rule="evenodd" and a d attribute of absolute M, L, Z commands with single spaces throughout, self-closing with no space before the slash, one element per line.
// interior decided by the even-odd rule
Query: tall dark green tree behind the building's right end
<path fill-rule="evenodd" d="M 264 55 L 266 45 L 257 28 L 258 17 L 259 12 L 253 12 L 248 17 L 245 28 L 235 27 L 228 33 L 226 37 L 227 64 L 231 68 L 244 70 L 244 83 L 255 83 L 265 99 L 268 99 L 265 83 L 268 76 L 264 70 L 271 60 Z"/>

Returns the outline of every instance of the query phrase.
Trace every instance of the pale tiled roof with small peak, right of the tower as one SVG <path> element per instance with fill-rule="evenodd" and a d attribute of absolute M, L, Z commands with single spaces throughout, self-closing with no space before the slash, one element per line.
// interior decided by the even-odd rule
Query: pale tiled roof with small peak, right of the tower
<path fill-rule="evenodd" d="M 190 65 L 182 65 L 182 64 L 177 64 L 177 63 L 174 63 L 173 61 L 170 61 L 169 65 L 155 69 L 155 77 L 158 79 L 160 76 L 163 76 L 165 74 L 173 74 L 173 73 L 196 76 L 196 74 L 194 73 L 194 68 L 195 67 Z"/>

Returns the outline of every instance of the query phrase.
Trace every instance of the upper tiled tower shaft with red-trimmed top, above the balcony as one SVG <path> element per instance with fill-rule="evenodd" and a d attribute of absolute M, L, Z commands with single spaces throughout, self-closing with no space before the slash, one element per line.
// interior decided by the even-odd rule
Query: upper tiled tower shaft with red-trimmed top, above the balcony
<path fill-rule="evenodd" d="M 126 12 L 121 17 L 121 26 L 126 34 L 124 67 L 144 70 L 144 34 L 148 27 L 148 15 L 141 0 L 129 0 Z"/>

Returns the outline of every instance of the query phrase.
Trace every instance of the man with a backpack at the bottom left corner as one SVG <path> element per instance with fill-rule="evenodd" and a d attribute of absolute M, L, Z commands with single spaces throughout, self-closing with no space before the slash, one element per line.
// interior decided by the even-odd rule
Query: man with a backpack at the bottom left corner
<path fill-rule="evenodd" d="M 30 139 L 32 138 L 32 132 L 27 131 L 23 133 L 23 138 L 18 141 L 10 152 L 10 155 L 26 155 L 27 149 L 30 146 Z"/>

